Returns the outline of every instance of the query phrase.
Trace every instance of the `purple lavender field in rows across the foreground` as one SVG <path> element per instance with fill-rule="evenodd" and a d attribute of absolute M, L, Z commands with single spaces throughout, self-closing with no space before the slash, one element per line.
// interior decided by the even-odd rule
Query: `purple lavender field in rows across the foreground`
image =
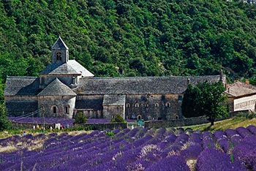
<path fill-rule="evenodd" d="M 256 127 L 115 129 L 0 140 L 1 170 L 256 170 Z"/>

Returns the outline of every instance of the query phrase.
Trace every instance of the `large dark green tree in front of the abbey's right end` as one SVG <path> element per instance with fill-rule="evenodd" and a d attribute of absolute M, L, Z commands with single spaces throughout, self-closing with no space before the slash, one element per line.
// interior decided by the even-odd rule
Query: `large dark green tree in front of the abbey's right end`
<path fill-rule="evenodd" d="M 226 99 L 223 95 L 224 91 L 221 82 L 189 85 L 181 104 L 183 115 L 187 118 L 206 115 L 211 126 L 214 125 L 217 117 L 227 115 L 227 108 L 223 105 Z"/>

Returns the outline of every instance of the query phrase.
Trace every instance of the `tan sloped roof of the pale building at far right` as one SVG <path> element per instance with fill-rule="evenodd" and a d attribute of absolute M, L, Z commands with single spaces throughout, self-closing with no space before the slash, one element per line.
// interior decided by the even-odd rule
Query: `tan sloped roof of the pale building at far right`
<path fill-rule="evenodd" d="M 256 87 L 252 86 L 251 84 L 236 81 L 233 84 L 227 85 L 227 90 L 225 91 L 225 93 L 234 97 L 245 96 L 246 94 L 255 94 Z"/>

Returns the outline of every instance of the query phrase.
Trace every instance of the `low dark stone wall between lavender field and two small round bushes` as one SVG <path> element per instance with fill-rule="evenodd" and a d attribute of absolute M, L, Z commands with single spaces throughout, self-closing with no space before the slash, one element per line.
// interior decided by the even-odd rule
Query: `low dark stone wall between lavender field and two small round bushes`
<path fill-rule="evenodd" d="M 93 130 L 127 129 L 127 123 L 83 123 L 75 124 L 74 127 L 90 128 Z"/>

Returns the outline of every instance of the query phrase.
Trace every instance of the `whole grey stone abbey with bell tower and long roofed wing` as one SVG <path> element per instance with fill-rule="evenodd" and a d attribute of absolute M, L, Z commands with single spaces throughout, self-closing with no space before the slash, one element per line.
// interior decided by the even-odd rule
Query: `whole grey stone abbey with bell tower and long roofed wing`
<path fill-rule="evenodd" d="M 19 116 L 43 109 L 46 117 L 144 120 L 182 118 L 181 100 L 187 85 L 222 81 L 225 76 L 94 77 L 75 60 L 59 37 L 52 46 L 51 64 L 39 77 L 7 77 L 7 113 Z M 41 114 L 39 113 L 38 116 Z"/>

